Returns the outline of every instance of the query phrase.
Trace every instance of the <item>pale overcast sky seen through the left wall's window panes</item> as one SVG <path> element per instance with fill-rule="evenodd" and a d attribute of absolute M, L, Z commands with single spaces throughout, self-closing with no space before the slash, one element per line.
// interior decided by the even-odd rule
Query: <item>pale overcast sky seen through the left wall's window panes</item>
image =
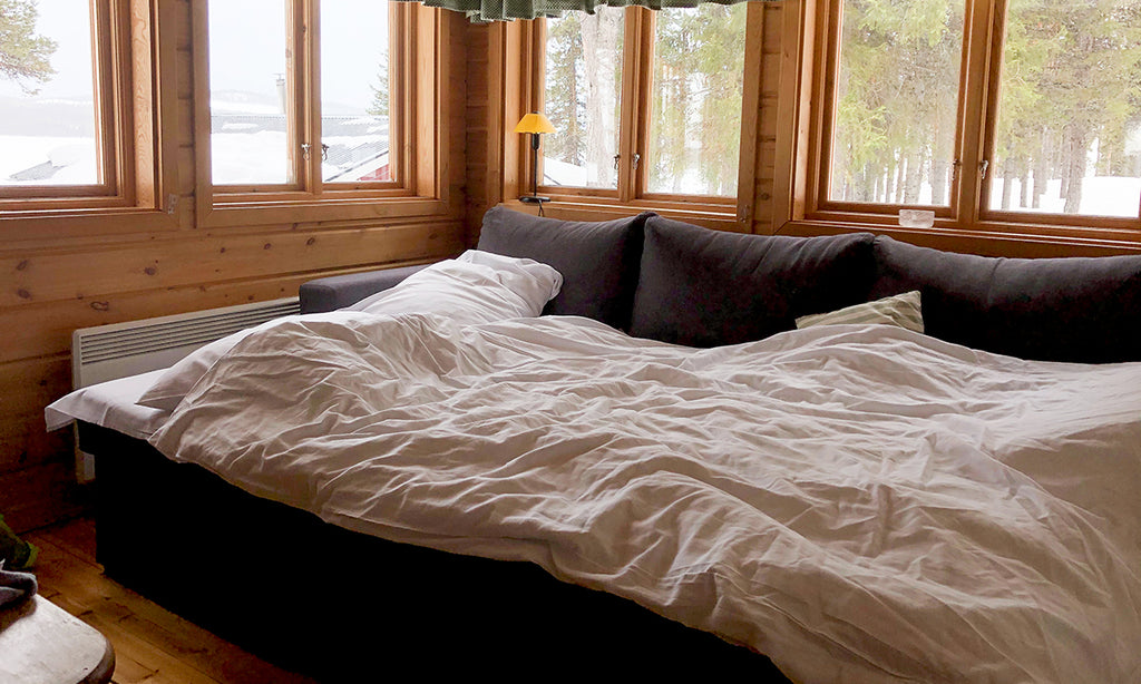
<path fill-rule="evenodd" d="M 51 56 L 57 74 L 38 85 L 44 97 L 90 98 L 89 0 L 39 0 L 38 32 L 58 44 Z M 211 87 L 274 96 L 275 75 L 284 71 L 286 0 L 216 0 L 211 27 Z M 324 0 L 322 7 L 322 91 L 325 101 L 364 109 L 387 46 L 388 3 L 378 0 Z M 217 23 L 217 24 L 216 24 Z M 19 96 L 0 80 L 0 96 Z"/>

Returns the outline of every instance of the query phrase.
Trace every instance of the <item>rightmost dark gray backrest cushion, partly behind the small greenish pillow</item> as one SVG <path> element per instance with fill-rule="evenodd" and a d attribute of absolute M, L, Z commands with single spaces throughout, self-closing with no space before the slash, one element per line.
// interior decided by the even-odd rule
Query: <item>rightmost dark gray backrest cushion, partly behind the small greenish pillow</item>
<path fill-rule="evenodd" d="M 997 259 L 875 241 L 872 296 L 920 290 L 929 335 L 1023 359 L 1141 360 L 1141 256 Z"/>

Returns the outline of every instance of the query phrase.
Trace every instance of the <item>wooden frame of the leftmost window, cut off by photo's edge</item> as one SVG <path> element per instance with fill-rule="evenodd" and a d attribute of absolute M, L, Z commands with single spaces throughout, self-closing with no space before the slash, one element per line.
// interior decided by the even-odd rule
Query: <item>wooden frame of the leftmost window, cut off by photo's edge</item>
<path fill-rule="evenodd" d="M 86 233 L 108 214 L 126 231 L 173 223 L 176 198 L 165 193 L 177 185 L 175 169 L 162 160 L 176 158 L 176 141 L 164 139 L 161 122 L 177 100 L 175 41 L 160 40 L 159 27 L 177 16 L 159 0 L 92 0 L 91 17 L 103 182 L 0 188 L 0 221 L 33 221 L 51 235 Z M 60 219 L 79 220 L 65 227 Z"/>

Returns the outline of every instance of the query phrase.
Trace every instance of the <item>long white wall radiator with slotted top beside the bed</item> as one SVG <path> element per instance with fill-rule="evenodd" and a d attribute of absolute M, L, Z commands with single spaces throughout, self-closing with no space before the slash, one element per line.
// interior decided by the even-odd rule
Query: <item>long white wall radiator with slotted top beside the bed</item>
<path fill-rule="evenodd" d="M 291 296 L 80 328 L 72 333 L 72 385 L 78 390 L 165 368 L 204 344 L 299 309 Z M 75 474 L 80 482 L 95 478 L 94 459 L 78 447 Z"/>

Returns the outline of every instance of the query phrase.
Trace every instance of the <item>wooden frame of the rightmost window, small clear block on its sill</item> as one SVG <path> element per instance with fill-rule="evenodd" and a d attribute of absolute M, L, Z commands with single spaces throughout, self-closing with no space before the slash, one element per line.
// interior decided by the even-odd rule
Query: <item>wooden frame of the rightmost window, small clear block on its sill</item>
<path fill-rule="evenodd" d="M 993 174 L 998 74 L 1005 34 L 1003 0 L 966 0 L 955 173 L 948 206 L 907 205 L 936 213 L 930 229 L 898 226 L 895 204 L 827 199 L 833 74 L 842 0 L 786 0 L 779 87 L 776 230 L 792 234 L 875 230 L 922 244 L 1023 255 L 1141 252 L 1141 218 L 1012 212 L 985 206 Z M 784 195 L 782 190 L 786 190 Z M 784 196 L 783 196 L 784 195 Z"/>

